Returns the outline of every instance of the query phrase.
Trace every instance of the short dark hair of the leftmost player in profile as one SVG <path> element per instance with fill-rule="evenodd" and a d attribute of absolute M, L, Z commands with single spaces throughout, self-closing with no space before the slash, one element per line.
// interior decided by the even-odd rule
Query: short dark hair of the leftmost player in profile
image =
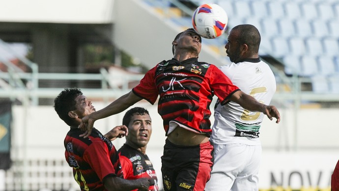
<path fill-rule="evenodd" d="M 76 98 L 79 95 L 83 95 L 78 88 L 65 88 L 57 97 L 54 99 L 54 109 L 60 119 L 65 121 L 69 126 L 76 125 L 74 120 L 68 116 L 68 112 L 76 110 L 77 101 Z"/>

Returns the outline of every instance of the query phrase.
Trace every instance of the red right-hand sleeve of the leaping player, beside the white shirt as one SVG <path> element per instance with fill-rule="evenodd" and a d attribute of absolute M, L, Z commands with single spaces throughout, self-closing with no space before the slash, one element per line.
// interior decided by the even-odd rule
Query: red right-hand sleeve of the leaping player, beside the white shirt
<path fill-rule="evenodd" d="M 214 94 L 221 100 L 221 104 L 226 104 L 228 98 L 240 89 L 217 67 L 212 67 L 209 81 Z"/>

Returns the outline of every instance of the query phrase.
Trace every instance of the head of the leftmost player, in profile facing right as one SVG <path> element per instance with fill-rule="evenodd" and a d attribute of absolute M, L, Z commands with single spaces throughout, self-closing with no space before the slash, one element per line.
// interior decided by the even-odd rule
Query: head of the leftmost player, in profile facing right
<path fill-rule="evenodd" d="M 78 88 L 65 88 L 54 99 L 54 109 L 69 126 L 79 125 L 84 116 L 95 112 L 92 102 Z"/>

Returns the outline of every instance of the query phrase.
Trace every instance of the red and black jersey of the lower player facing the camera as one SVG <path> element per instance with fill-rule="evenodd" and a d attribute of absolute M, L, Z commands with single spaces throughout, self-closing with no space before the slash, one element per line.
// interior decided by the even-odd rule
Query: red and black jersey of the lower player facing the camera
<path fill-rule="evenodd" d="M 135 180 L 138 178 L 152 179 L 154 181 L 154 185 L 151 185 L 149 187 L 149 191 L 159 190 L 157 175 L 147 155 L 144 155 L 141 151 L 131 147 L 128 144 L 124 144 L 118 150 L 118 153 L 121 168 L 124 174 L 124 179 L 128 180 Z"/>

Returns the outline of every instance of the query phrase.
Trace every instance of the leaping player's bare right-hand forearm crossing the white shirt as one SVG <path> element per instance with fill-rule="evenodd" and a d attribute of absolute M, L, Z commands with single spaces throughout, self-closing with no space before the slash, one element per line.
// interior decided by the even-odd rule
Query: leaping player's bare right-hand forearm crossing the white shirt
<path fill-rule="evenodd" d="M 235 92 L 229 100 L 238 103 L 244 109 L 250 111 L 258 111 L 265 114 L 270 120 L 276 118 L 276 123 L 280 122 L 280 114 L 278 109 L 274 105 L 265 105 L 258 102 L 254 97 L 251 95 L 247 95 L 242 91 Z"/>

